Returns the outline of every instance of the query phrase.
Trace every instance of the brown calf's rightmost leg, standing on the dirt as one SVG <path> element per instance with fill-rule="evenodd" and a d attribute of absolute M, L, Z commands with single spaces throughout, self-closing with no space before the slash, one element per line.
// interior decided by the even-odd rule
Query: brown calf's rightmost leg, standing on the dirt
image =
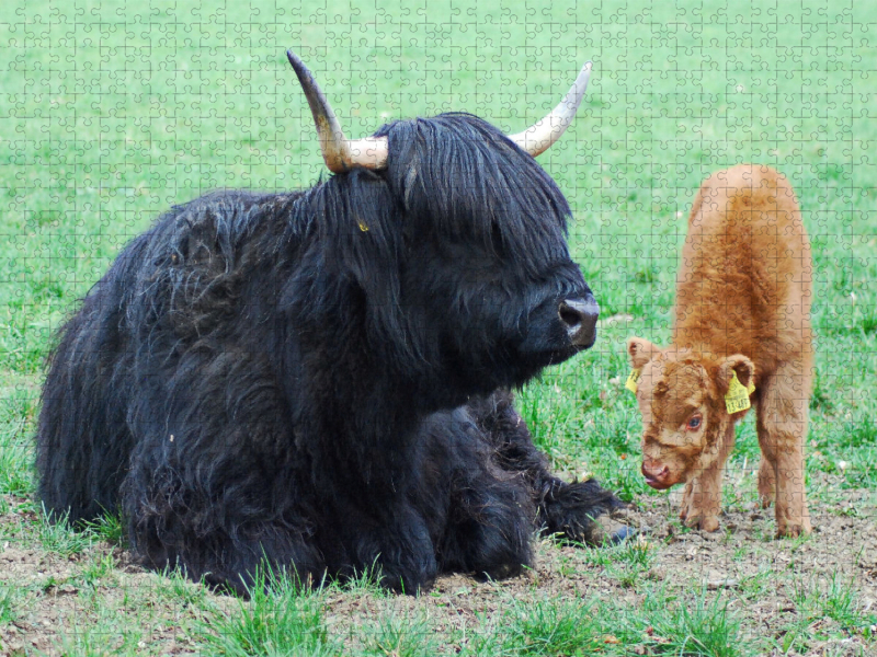
<path fill-rule="evenodd" d="M 784 362 L 761 383 L 756 427 L 762 456 L 774 473 L 778 535 L 796 537 L 811 529 L 804 482 L 811 383 L 810 368 L 801 360 Z"/>

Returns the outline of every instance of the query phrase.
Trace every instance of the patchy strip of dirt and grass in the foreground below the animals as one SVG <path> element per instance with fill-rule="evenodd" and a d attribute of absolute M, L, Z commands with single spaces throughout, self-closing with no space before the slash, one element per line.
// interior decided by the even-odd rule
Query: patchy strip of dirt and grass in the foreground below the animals
<path fill-rule="evenodd" d="M 281 581 L 250 602 L 145 572 L 101 530 L 71 534 L 31 509 L 12 500 L 0 518 L 13 539 L 0 552 L 0 646 L 13 655 L 877 650 L 873 492 L 820 499 L 819 531 L 806 540 L 773 540 L 770 514 L 739 500 L 719 532 L 688 531 L 668 499 L 649 496 L 629 514 L 640 539 L 603 550 L 542 540 L 535 567 L 514 579 L 443 577 L 417 598 L 389 596 L 367 578 L 310 595 Z"/>

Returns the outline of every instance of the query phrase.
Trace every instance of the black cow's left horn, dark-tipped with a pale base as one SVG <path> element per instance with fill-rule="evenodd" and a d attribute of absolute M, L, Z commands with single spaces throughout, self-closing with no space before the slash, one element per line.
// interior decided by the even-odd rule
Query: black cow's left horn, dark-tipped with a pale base
<path fill-rule="evenodd" d="M 320 138 L 322 159 L 329 171 L 341 173 L 353 166 L 366 169 L 384 169 L 387 166 L 389 146 L 386 137 L 366 137 L 365 139 L 348 139 L 338 123 L 332 106 L 326 100 L 320 85 L 314 79 L 308 67 L 292 50 L 286 50 L 286 57 L 298 76 L 305 97 L 314 114 L 317 124 L 317 134 Z"/>

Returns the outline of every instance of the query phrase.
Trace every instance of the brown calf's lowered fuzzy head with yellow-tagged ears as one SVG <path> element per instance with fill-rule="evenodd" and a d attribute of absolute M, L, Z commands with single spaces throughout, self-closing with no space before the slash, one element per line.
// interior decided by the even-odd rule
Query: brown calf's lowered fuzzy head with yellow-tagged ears
<path fill-rule="evenodd" d="M 688 482 L 716 461 L 737 415 L 729 413 L 726 397 L 738 385 L 750 387 L 754 366 L 740 354 L 711 358 L 673 346 L 661 349 L 641 337 L 627 341 L 627 354 L 638 374 L 646 483 L 664 489 Z"/>

